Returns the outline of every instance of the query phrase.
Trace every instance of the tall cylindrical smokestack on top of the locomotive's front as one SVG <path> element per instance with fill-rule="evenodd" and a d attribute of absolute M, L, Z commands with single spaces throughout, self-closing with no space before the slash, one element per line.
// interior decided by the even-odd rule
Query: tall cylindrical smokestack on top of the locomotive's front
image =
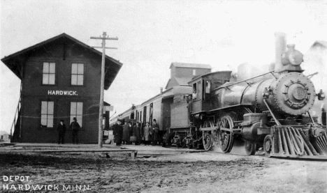
<path fill-rule="evenodd" d="M 286 34 L 275 33 L 275 72 L 283 69 L 282 54 L 286 52 Z"/>

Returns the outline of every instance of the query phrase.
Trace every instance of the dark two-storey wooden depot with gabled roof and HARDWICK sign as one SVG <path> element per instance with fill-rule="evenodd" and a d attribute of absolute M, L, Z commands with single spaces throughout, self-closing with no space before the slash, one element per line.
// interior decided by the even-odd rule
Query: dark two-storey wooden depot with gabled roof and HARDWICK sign
<path fill-rule="evenodd" d="M 21 79 L 12 141 L 55 143 L 57 125 L 64 120 L 65 142 L 71 143 L 68 126 L 76 117 L 82 127 L 78 133 L 80 143 L 97 143 L 101 57 L 101 52 L 62 33 L 1 59 Z M 107 90 L 122 63 L 109 56 L 105 62 Z M 108 129 L 110 105 L 104 102 L 104 106 Z"/>

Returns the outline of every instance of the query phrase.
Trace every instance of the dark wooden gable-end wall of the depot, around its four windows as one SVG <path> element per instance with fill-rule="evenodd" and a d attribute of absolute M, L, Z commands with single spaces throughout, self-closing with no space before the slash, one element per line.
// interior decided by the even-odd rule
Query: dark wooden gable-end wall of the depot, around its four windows
<path fill-rule="evenodd" d="M 20 142 L 57 142 L 57 125 L 63 119 L 70 124 L 71 102 L 83 102 L 80 143 L 97 143 L 101 56 L 77 45 L 50 43 L 33 52 L 24 64 L 22 78 L 22 108 Z M 43 62 L 54 62 L 55 84 L 44 85 Z M 71 85 L 71 64 L 84 63 L 84 85 Z M 41 101 L 54 102 L 53 127 L 41 127 Z M 108 115 L 108 114 L 107 114 Z M 78 122 L 80 122 L 78 120 Z M 65 142 L 71 143 L 71 130 L 66 130 Z"/>

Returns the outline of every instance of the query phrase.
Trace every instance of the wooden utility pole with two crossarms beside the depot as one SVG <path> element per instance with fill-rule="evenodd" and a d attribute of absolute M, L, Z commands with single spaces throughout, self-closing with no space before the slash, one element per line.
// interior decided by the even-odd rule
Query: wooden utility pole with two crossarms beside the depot
<path fill-rule="evenodd" d="M 105 59 L 106 59 L 106 49 L 117 49 L 117 47 L 106 47 L 106 40 L 118 40 L 118 38 L 109 38 L 107 37 L 107 33 L 103 32 L 103 36 L 101 37 L 91 37 L 91 39 L 102 40 L 102 47 L 94 48 L 102 48 L 102 62 L 101 62 L 101 85 L 100 85 L 100 104 L 99 104 L 99 148 L 102 148 L 102 139 L 103 139 L 103 95 L 104 95 L 104 79 L 105 79 Z"/>

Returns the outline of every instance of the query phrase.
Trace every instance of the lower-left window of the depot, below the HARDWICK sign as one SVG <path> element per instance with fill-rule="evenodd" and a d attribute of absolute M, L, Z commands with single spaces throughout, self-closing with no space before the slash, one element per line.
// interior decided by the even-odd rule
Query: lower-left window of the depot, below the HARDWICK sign
<path fill-rule="evenodd" d="M 53 101 L 41 102 L 41 127 L 53 128 Z"/>

